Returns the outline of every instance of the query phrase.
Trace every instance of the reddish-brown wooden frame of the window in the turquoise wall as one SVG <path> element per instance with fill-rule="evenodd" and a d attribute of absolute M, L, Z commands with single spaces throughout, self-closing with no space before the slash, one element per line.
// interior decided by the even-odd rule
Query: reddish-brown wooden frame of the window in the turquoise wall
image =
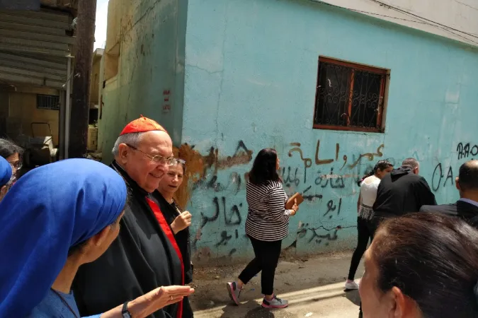
<path fill-rule="evenodd" d="M 320 63 L 325 62 L 329 64 L 336 64 L 341 66 L 349 67 L 352 70 L 351 74 L 351 85 L 350 85 L 350 92 L 348 98 L 348 119 L 347 124 L 350 124 L 350 114 L 352 112 L 352 93 L 353 93 L 353 82 L 355 76 L 355 70 L 360 71 L 368 71 L 370 73 L 376 73 L 382 75 L 382 81 L 380 83 L 380 96 L 379 96 L 379 110 L 377 114 L 377 128 L 365 128 L 365 127 L 355 127 L 355 126 L 339 126 L 339 125 L 327 125 L 327 124 L 315 124 L 315 114 L 317 110 L 317 102 L 318 102 L 318 94 L 319 94 L 319 87 L 320 87 Z M 375 133 L 384 133 L 385 132 L 385 123 L 383 122 L 384 119 L 384 111 L 385 111 L 385 104 L 386 104 L 386 95 L 387 95 L 387 85 L 388 85 L 388 78 L 389 78 L 389 69 L 381 69 L 374 66 L 367 66 L 363 64 L 356 64 L 353 62 L 348 61 L 341 61 L 339 59 L 332 59 L 330 57 L 319 57 L 319 63 L 317 64 L 317 84 L 315 88 L 315 101 L 314 101 L 314 114 L 312 117 L 313 129 L 326 129 L 326 130 L 337 130 L 337 131 L 363 131 L 363 132 L 375 132 Z"/>

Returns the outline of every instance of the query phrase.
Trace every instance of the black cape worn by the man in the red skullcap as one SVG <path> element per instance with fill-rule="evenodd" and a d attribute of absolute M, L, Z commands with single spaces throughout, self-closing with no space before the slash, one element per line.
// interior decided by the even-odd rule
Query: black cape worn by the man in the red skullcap
<path fill-rule="evenodd" d="M 181 261 L 149 208 L 149 194 L 115 162 L 130 190 L 120 234 L 105 254 L 76 273 L 73 290 L 81 317 L 101 314 L 160 286 L 181 285 Z M 150 318 L 176 317 L 170 305 Z"/>

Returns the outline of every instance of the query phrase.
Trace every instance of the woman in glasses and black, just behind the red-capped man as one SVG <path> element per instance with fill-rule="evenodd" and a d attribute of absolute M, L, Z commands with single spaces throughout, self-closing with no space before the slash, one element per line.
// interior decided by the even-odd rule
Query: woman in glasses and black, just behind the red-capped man
<path fill-rule="evenodd" d="M 153 192 L 153 198 L 157 201 L 161 213 L 166 222 L 171 225 L 173 236 L 170 237 L 173 247 L 177 247 L 181 254 L 184 284 L 193 281 L 193 265 L 190 259 L 190 234 L 189 225 L 191 224 L 191 214 L 183 211 L 177 204 L 174 196 L 176 191 L 183 183 L 184 173 L 186 172 L 186 161 L 174 159 L 173 165 L 169 167 L 169 172 L 159 182 L 157 191 Z M 190 307 L 187 297 L 183 300 L 183 318 L 193 317 L 193 310 Z"/>

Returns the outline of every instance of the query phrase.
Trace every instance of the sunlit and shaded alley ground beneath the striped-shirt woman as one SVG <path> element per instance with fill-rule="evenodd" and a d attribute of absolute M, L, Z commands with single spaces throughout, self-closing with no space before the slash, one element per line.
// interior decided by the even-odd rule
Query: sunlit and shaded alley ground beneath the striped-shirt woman
<path fill-rule="evenodd" d="M 358 317 L 358 292 L 343 291 L 351 253 L 329 254 L 310 259 L 281 259 L 275 280 L 279 297 L 289 300 L 286 310 L 261 308 L 260 275 L 241 294 L 242 305 L 232 305 L 226 282 L 237 277 L 242 266 L 198 269 L 195 272 L 196 293 L 191 298 L 195 317 L 249 318 L 355 318 Z M 363 273 L 360 264 L 358 276 Z"/>

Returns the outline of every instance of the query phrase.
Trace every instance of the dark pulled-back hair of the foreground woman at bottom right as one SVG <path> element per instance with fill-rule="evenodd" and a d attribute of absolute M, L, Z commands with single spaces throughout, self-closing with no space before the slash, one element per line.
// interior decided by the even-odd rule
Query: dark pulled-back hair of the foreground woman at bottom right
<path fill-rule="evenodd" d="M 461 218 L 391 218 L 377 230 L 370 252 L 383 293 L 399 288 L 423 317 L 478 317 L 478 230 Z"/>

